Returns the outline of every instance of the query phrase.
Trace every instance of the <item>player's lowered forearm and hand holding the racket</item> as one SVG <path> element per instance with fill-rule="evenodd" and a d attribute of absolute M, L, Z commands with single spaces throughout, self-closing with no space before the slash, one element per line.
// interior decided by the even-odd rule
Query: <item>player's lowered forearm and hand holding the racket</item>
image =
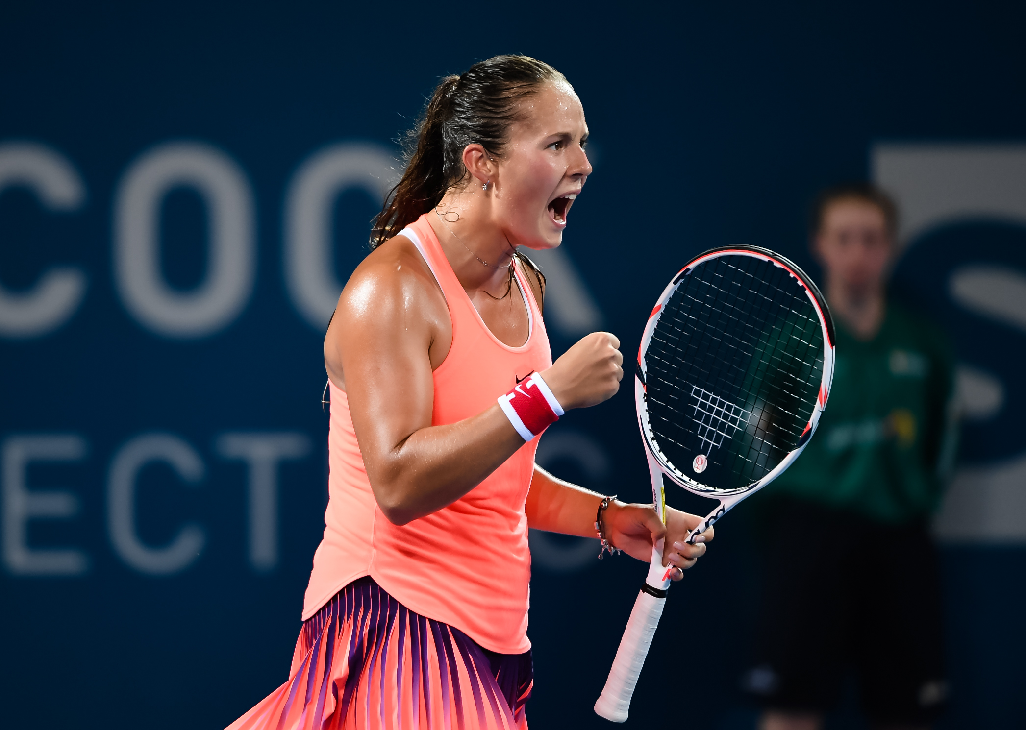
<path fill-rule="evenodd" d="M 536 530 L 594 537 L 595 513 L 603 498 L 602 494 L 556 479 L 536 463 L 525 504 L 527 525 Z M 713 538 L 710 527 L 699 535 L 696 544 L 684 542 L 687 532 L 700 522 L 701 517 L 667 506 L 664 526 L 654 505 L 620 500 L 614 500 L 602 512 L 606 539 L 614 548 L 645 563 L 652 559 L 653 543 L 665 536 L 663 565 L 676 566 L 671 575 L 674 580 L 683 577 L 681 571 L 695 565 L 705 554 L 705 543 Z"/>

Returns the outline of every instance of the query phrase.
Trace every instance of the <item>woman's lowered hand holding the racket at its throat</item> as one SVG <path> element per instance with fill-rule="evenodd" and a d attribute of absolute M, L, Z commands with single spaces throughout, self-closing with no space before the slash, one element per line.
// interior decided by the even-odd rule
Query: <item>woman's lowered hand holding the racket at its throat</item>
<path fill-rule="evenodd" d="M 706 544 L 714 535 L 710 527 L 695 538 L 695 544 L 684 540 L 687 533 L 702 522 L 698 515 L 666 508 L 666 525 L 659 519 L 653 504 L 625 504 L 614 501 L 602 513 L 602 525 L 605 536 L 628 555 L 645 563 L 652 560 L 652 546 L 663 537 L 663 565 L 675 566 L 670 577 L 680 580 L 684 577 L 682 571 L 690 568 L 700 557 L 705 555 Z"/>

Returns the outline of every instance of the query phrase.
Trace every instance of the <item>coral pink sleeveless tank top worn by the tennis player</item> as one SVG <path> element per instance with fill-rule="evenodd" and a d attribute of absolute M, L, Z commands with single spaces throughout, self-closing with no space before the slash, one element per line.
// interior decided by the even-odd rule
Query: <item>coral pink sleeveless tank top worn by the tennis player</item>
<path fill-rule="evenodd" d="M 431 268 L 452 320 L 452 347 L 432 375 L 432 425 L 480 413 L 517 378 L 552 365 L 542 313 L 519 269 L 516 280 L 530 324 L 527 341 L 511 348 L 484 325 L 426 217 L 400 235 L 413 242 Z M 530 553 L 524 501 L 538 439 L 462 498 L 399 527 L 374 500 L 346 394 L 334 383 L 329 388 L 328 504 L 304 620 L 348 583 L 369 575 L 410 610 L 460 628 L 485 649 L 527 651 Z"/>

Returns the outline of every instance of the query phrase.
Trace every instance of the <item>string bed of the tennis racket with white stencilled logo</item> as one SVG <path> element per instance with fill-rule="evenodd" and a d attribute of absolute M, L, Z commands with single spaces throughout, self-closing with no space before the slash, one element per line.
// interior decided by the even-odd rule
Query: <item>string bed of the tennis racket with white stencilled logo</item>
<path fill-rule="evenodd" d="M 801 437 L 822 353 L 819 316 L 784 269 L 752 256 L 694 268 L 645 353 L 649 424 L 668 465 L 681 473 L 702 451 L 711 488 L 758 481 Z"/>

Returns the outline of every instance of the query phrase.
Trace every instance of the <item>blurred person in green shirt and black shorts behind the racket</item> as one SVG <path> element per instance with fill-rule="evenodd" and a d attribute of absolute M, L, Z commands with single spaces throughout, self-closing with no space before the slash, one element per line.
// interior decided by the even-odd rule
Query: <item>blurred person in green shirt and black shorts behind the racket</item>
<path fill-rule="evenodd" d="M 762 730 L 816 730 L 855 678 L 871 727 L 926 728 L 947 694 L 929 532 L 954 452 L 953 362 L 889 299 L 898 212 L 870 185 L 824 191 L 813 254 L 837 329 L 819 433 L 767 490 L 756 657 Z"/>

